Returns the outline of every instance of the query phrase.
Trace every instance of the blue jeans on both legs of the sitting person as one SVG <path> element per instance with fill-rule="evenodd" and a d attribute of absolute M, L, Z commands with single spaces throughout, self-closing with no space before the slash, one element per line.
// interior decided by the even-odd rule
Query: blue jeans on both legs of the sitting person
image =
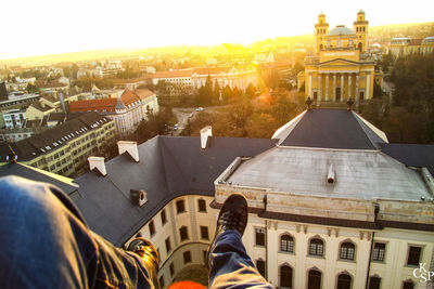
<path fill-rule="evenodd" d="M 238 232 L 218 236 L 210 252 L 213 288 L 272 288 Z M 0 179 L 0 288 L 154 288 L 149 272 L 139 255 L 92 233 L 56 187 Z"/>

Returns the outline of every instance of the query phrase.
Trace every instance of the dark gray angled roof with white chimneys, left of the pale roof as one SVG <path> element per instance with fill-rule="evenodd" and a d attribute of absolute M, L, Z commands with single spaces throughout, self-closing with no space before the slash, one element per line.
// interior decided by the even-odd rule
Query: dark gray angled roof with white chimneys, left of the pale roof
<path fill-rule="evenodd" d="M 139 162 L 123 154 L 105 163 L 106 176 L 94 171 L 78 176 L 75 202 L 90 228 L 120 246 L 175 197 L 214 196 L 214 180 L 235 157 L 275 145 L 267 139 L 210 137 L 201 150 L 200 137 L 156 136 L 139 145 Z M 146 192 L 143 207 L 131 202 L 131 188 Z"/>

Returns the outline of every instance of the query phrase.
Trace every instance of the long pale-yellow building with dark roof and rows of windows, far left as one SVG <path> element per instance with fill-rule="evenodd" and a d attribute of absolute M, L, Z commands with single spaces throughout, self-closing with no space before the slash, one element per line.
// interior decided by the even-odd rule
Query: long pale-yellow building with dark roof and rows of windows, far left
<path fill-rule="evenodd" d="M 97 113 L 77 115 L 63 124 L 23 141 L 0 145 L 0 165 L 11 148 L 17 161 L 65 176 L 84 172 L 87 157 L 102 154 L 115 141 L 115 123 Z"/>

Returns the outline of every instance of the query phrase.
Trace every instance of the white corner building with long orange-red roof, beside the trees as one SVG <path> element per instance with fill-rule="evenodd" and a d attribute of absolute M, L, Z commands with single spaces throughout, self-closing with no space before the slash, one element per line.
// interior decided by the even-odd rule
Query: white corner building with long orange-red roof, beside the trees
<path fill-rule="evenodd" d="M 98 111 L 113 119 L 120 135 L 131 133 L 149 114 L 157 114 L 158 109 L 156 95 L 150 90 L 126 90 L 119 92 L 117 98 L 69 103 L 71 113 Z"/>

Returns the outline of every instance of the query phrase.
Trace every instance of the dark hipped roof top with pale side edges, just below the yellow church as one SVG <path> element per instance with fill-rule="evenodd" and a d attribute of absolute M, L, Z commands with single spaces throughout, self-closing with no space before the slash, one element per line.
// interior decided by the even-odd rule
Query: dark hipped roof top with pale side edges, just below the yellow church
<path fill-rule="evenodd" d="M 385 134 L 357 114 L 346 109 L 310 109 L 273 139 L 282 146 L 379 149 Z"/>

